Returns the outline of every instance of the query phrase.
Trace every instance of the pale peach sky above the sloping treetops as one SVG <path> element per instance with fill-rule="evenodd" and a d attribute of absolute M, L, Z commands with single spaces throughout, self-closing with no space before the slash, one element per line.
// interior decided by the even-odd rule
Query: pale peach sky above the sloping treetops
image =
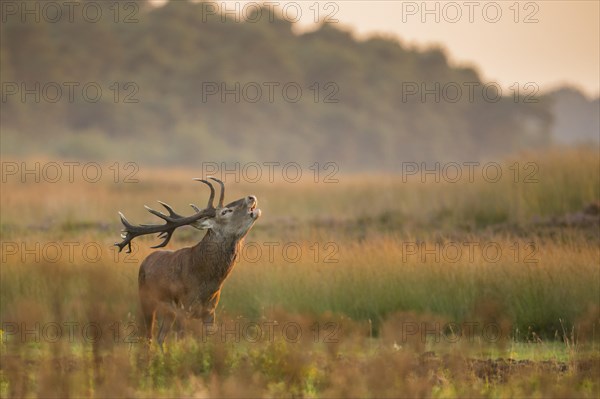
<path fill-rule="evenodd" d="M 252 3 L 256 4 L 218 1 L 217 5 L 237 7 L 244 15 Z M 474 66 L 485 81 L 505 88 L 533 82 L 545 92 L 570 84 L 589 96 L 600 94 L 598 0 L 270 3 L 279 5 L 278 12 L 287 7 L 288 19 L 298 20 L 300 29 L 314 27 L 315 17 L 333 14 L 340 26 L 358 37 L 378 33 L 409 46 L 445 47 L 453 64 Z"/>

